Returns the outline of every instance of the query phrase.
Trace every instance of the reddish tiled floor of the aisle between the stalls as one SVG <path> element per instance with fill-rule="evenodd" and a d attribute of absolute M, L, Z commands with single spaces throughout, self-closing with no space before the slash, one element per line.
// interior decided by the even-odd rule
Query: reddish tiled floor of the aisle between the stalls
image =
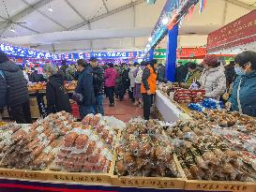
<path fill-rule="evenodd" d="M 114 116 L 117 119 L 128 122 L 131 118 L 143 116 L 143 109 L 135 107 L 133 103 L 125 97 L 123 101 L 115 98 L 114 107 L 109 107 L 109 99 L 105 99 L 104 103 L 105 115 Z"/>

